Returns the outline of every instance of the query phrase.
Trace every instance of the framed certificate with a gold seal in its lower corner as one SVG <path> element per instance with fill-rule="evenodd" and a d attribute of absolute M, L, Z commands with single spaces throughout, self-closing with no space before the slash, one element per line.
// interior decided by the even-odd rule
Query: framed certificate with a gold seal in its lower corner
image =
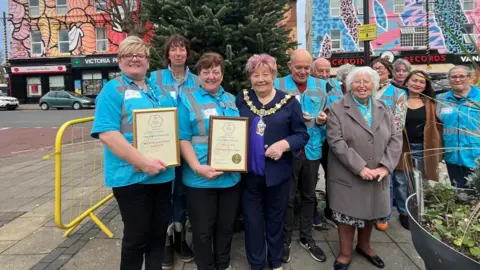
<path fill-rule="evenodd" d="M 213 147 L 213 144 L 217 145 L 217 142 L 216 142 L 217 136 L 215 136 L 215 133 L 221 132 L 218 129 L 222 129 L 224 127 L 223 125 L 221 125 L 222 122 L 223 124 L 228 122 L 235 122 L 236 124 L 241 125 L 240 126 L 241 129 L 244 129 L 244 132 L 240 131 L 240 133 L 238 133 L 238 132 L 235 132 L 234 130 L 228 133 L 229 134 L 228 136 L 240 136 L 238 138 L 241 138 L 244 141 L 244 143 L 240 142 L 240 149 L 238 151 L 233 150 L 235 153 L 231 157 L 228 157 L 227 159 L 225 159 L 225 160 L 228 160 L 228 163 L 230 163 L 231 161 L 231 163 L 226 166 L 214 164 L 215 158 L 213 157 L 214 150 L 215 150 Z M 249 130 L 248 117 L 211 116 L 209 120 L 207 164 L 212 168 L 214 168 L 215 170 L 221 171 L 221 172 L 241 172 L 241 173 L 247 172 L 248 171 L 248 130 Z M 237 134 L 232 135 L 233 133 L 237 133 Z M 231 153 L 227 153 L 227 154 L 231 154 Z M 240 166 L 237 166 L 237 164 L 240 164 Z"/>

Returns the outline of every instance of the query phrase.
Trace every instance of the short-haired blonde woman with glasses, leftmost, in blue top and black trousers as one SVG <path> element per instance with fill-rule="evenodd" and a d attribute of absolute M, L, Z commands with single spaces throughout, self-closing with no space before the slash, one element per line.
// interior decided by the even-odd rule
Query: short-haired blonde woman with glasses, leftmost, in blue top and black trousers
<path fill-rule="evenodd" d="M 142 269 L 144 258 L 146 270 L 162 268 L 165 232 L 171 218 L 174 169 L 133 146 L 134 111 L 175 107 L 173 98 L 146 78 L 149 56 L 147 45 L 138 37 L 129 36 L 120 43 L 122 73 L 98 95 L 91 132 L 105 145 L 105 185 L 113 189 L 124 223 L 121 270 Z M 147 122 L 160 123 L 158 118 Z M 164 126 L 166 122 L 172 120 L 163 121 Z"/>

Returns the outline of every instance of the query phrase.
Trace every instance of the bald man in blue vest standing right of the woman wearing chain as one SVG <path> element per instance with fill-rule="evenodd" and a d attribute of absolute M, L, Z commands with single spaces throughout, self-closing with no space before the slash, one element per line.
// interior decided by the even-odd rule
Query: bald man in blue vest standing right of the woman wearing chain
<path fill-rule="evenodd" d="M 310 252 L 316 261 L 324 262 L 325 253 L 312 237 L 312 219 L 315 207 L 315 187 L 322 156 L 321 145 L 325 140 L 322 129 L 327 120 L 323 112 L 328 105 L 328 97 L 322 88 L 322 82 L 310 76 L 312 56 L 304 49 L 295 50 L 288 62 L 291 74 L 277 78 L 274 87 L 294 95 L 300 101 L 303 118 L 310 139 L 304 149 L 295 157 L 293 164 L 293 182 L 290 188 L 287 218 L 284 226 L 284 248 L 282 260 L 290 260 L 290 243 L 294 229 L 294 201 L 297 190 L 300 193 L 300 245 Z"/>

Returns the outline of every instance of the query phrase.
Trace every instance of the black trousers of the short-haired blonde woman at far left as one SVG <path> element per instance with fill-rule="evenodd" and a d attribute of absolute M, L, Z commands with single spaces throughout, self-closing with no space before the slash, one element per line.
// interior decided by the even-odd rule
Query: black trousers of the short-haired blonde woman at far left
<path fill-rule="evenodd" d="M 120 270 L 162 269 L 172 183 L 113 188 L 124 224 Z"/>

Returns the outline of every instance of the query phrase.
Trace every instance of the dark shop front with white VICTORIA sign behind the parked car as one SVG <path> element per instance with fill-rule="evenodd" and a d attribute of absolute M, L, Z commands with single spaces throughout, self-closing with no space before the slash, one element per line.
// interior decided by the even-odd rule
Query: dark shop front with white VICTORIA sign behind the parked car
<path fill-rule="evenodd" d="M 71 59 L 73 89 L 76 93 L 95 98 L 103 86 L 120 76 L 116 55 L 90 55 Z"/>

